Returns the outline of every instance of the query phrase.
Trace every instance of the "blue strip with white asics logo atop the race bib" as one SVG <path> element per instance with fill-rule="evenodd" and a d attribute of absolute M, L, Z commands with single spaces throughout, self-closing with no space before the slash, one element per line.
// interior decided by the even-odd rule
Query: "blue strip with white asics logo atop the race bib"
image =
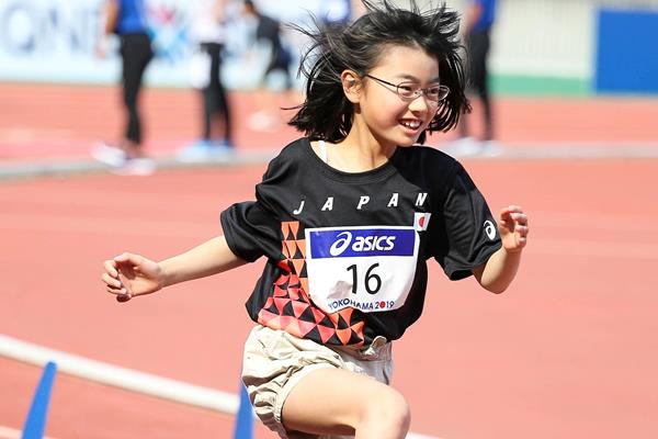
<path fill-rule="evenodd" d="M 313 258 L 413 255 L 412 227 L 342 227 L 307 229 Z"/>

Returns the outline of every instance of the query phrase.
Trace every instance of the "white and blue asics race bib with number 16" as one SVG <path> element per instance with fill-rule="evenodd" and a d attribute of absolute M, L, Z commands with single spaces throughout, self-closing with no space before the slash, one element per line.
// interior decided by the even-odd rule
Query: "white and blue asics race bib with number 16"
<path fill-rule="evenodd" d="M 307 228 L 309 296 L 327 313 L 399 308 L 413 282 L 418 246 L 413 227 Z"/>

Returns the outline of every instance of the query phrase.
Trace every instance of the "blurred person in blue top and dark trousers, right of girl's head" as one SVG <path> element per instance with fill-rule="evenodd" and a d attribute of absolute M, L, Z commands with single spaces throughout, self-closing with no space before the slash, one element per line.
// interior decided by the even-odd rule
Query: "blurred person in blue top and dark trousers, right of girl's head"
<path fill-rule="evenodd" d="M 484 132 L 479 140 L 470 136 L 468 116 L 460 121 L 460 137 L 454 142 L 455 153 L 468 155 L 495 155 L 494 115 L 489 94 L 488 57 L 491 45 L 491 29 L 496 21 L 496 0 L 469 0 L 463 21 L 463 35 L 468 55 L 468 86 L 480 100 Z"/>

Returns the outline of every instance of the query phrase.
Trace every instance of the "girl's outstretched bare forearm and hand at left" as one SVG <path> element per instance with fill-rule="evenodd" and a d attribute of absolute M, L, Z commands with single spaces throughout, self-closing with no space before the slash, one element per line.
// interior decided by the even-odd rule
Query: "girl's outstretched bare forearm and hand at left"
<path fill-rule="evenodd" d="M 245 263 L 230 250 L 226 238 L 219 236 L 160 262 L 124 252 L 105 261 L 101 280 L 117 301 L 126 302 L 137 295 L 151 294 L 164 286 L 217 274 Z"/>

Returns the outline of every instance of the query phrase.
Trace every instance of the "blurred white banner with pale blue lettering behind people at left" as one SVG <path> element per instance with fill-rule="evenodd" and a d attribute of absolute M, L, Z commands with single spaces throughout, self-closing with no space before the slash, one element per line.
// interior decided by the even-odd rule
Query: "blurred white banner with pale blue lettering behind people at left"
<path fill-rule="evenodd" d="M 156 59 L 147 69 L 147 82 L 189 87 L 195 45 L 189 32 L 194 0 L 148 0 Z M 331 21 L 347 20 L 348 0 L 286 0 L 256 2 L 268 15 L 282 22 L 304 23 L 309 12 Z M 120 74 L 116 53 L 98 58 L 94 46 L 102 20 L 101 0 L 2 0 L 0 1 L 0 80 L 110 83 Z M 243 56 L 249 48 L 250 23 L 242 20 L 241 1 L 229 3 L 226 63 L 223 75 L 229 88 L 254 87 L 266 59 Z M 288 35 L 285 35 L 288 36 Z M 297 37 L 298 38 L 298 37 Z M 300 47 L 294 36 L 287 44 Z M 253 49 L 259 54 L 259 48 Z M 262 52 L 262 50 L 260 50 Z M 298 49 L 293 50 L 298 56 Z"/>

